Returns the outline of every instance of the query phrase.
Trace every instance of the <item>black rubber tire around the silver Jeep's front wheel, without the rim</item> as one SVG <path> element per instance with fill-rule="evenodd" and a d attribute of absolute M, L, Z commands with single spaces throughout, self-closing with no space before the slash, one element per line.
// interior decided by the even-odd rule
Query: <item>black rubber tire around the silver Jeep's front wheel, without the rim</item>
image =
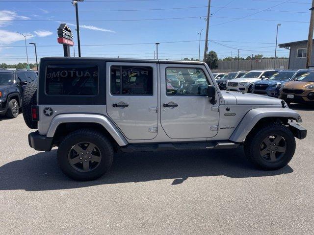
<path fill-rule="evenodd" d="M 275 162 L 267 162 L 260 154 L 260 146 L 264 138 L 272 135 L 281 135 L 286 141 L 286 152 Z M 279 123 L 270 123 L 256 128 L 250 133 L 244 143 L 245 155 L 258 168 L 276 170 L 287 165 L 295 152 L 295 139 L 288 127 Z"/>

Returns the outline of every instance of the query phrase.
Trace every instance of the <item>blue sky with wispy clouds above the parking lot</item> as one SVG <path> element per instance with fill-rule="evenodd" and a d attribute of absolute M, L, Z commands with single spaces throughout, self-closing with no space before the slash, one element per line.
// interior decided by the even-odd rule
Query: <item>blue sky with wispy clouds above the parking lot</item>
<path fill-rule="evenodd" d="M 60 22 L 70 24 L 73 31 L 76 28 L 75 7 L 71 0 L 17 1 L 0 0 L 0 63 L 26 62 L 25 47 L 16 47 L 25 45 L 24 37 L 16 31 L 32 35 L 27 37 L 27 45 L 30 42 L 37 44 L 38 57 L 63 56 L 63 48 L 56 41 L 56 29 Z M 198 33 L 203 29 L 202 58 L 208 0 L 85 0 L 78 4 L 81 45 L 90 45 L 81 47 L 82 56 L 153 59 L 154 43 L 159 42 L 160 59 L 198 58 Z M 209 42 L 209 50 L 216 51 L 219 58 L 231 53 L 235 56 L 235 48 L 240 48 L 242 57 L 251 54 L 273 56 L 279 23 L 282 25 L 278 43 L 307 39 L 311 0 L 211 0 L 211 6 L 209 40 L 215 43 Z M 160 8 L 185 9 L 148 10 Z M 131 11 L 139 9 L 142 11 Z M 149 20 L 160 18 L 187 19 Z M 77 45 L 76 31 L 74 40 Z M 193 42 L 164 43 L 178 41 Z M 140 43 L 148 44 L 116 45 Z M 111 46 L 97 46 L 104 44 Z M 33 47 L 27 47 L 27 50 L 29 62 L 34 63 Z M 71 52 L 73 54 L 73 48 Z M 76 56 L 77 52 L 76 48 Z M 288 56 L 288 50 L 278 48 L 277 54 Z"/>

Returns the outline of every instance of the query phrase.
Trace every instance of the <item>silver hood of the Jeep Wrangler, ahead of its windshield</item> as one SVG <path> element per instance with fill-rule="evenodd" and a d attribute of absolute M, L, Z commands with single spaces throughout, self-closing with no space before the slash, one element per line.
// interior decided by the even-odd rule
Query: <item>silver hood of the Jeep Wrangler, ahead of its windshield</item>
<path fill-rule="evenodd" d="M 236 104 L 245 105 L 282 105 L 281 99 L 277 99 L 270 96 L 260 95 L 260 94 L 250 94 L 241 92 L 230 92 L 231 95 L 235 96 Z M 227 95 L 223 97 L 228 99 Z"/>

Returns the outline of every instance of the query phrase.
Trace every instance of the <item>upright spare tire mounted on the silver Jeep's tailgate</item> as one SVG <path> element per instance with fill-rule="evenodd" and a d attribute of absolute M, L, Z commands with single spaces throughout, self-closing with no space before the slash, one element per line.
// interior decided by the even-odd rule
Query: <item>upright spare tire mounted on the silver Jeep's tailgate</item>
<path fill-rule="evenodd" d="M 22 96 L 22 111 L 26 125 L 31 129 L 37 129 L 37 121 L 31 119 L 31 106 L 37 104 L 37 83 L 27 84 Z"/>

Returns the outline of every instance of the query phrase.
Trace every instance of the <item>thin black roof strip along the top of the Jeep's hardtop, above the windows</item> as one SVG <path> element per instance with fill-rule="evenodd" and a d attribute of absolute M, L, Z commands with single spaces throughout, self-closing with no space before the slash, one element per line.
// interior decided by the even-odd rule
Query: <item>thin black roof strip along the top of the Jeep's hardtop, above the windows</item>
<path fill-rule="evenodd" d="M 152 59 L 127 59 L 127 58 L 106 58 L 106 57 L 43 57 L 41 60 L 51 61 L 82 61 L 82 60 L 99 60 L 105 62 L 130 62 L 130 63 L 163 63 L 163 64 L 192 64 L 204 65 L 202 61 L 186 60 L 152 60 Z"/>

